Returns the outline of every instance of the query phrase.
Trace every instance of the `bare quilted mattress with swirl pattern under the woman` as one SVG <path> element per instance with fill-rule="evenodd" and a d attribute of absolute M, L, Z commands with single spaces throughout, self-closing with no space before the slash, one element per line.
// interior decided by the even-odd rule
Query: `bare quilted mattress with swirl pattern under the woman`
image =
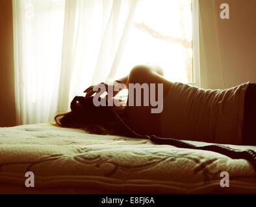
<path fill-rule="evenodd" d="M 211 151 L 32 124 L 0 128 L 0 193 L 256 193 L 256 177 L 247 160 Z"/>

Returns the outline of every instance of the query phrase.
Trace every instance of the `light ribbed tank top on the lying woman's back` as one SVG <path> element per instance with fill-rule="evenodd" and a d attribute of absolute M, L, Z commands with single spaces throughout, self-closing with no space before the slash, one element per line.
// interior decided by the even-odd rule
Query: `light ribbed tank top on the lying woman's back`
<path fill-rule="evenodd" d="M 201 89 L 175 82 L 164 96 L 163 137 L 242 144 L 244 96 L 249 82 L 229 89 Z"/>

